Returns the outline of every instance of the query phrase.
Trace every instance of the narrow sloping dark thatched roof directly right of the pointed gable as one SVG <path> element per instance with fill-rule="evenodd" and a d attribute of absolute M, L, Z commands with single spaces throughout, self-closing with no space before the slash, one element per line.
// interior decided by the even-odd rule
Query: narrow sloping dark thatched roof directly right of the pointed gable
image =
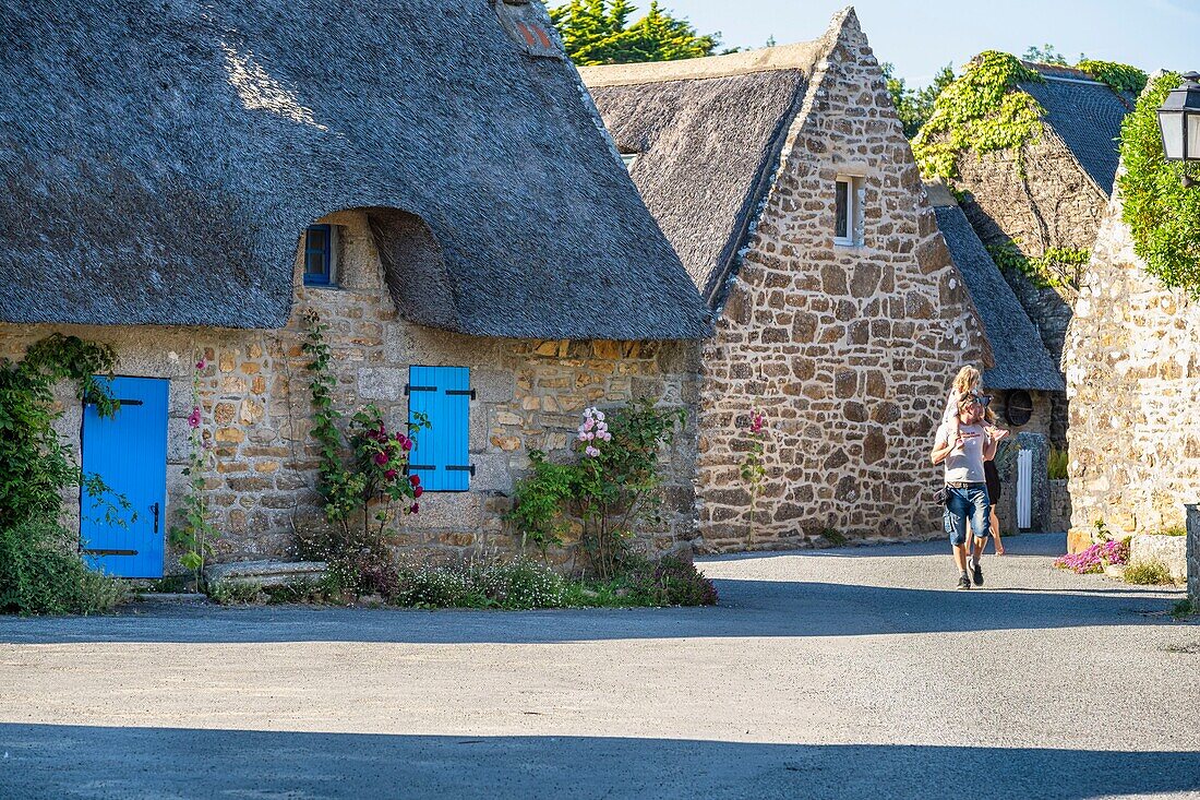
<path fill-rule="evenodd" d="M 928 190 L 950 258 L 966 281 L 991 345 L 995 364 L 984 370 L 984 384 L 992 389 L 1062 392 L 1066 384 L 1054 357 L 962 209 L 943 185 L 930 184 Z"/>

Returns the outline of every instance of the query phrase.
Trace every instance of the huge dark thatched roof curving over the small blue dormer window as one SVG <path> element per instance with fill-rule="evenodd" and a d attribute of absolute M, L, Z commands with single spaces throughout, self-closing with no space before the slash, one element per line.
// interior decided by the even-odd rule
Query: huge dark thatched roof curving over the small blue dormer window
<path fill-rule="evenodd" d="M 414 322 L 708 332 L 540 4 L 6 11 L 2 321 L 280 327 L 301 232 L 362 208 Z"/>

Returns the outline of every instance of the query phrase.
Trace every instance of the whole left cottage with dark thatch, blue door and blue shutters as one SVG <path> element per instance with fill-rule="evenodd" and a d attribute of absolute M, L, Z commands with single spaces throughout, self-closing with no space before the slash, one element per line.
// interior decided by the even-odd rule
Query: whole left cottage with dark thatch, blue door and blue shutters
<path fill-rule="evenodd" d="M 98 548 L 104 568 L 161 574 L 198 357 L 220 555 L 287 554 L 317 514 L 310 311 L 342 410 L 395 425 L 410 390 L 455 395 L 397 545 L 508 547 L 529 448 L 564 449 L 588 405 L 695 396 L 708 309 L 540 4 L 68 2 L 5 28 L 0 353 L 110 342 L 146 395 L 137 473 L 104 477 L 163 514 Z M 78 447 L 100 423 L 68 406 Z M 664 549 L 692 536 L 690 435 Z"/>

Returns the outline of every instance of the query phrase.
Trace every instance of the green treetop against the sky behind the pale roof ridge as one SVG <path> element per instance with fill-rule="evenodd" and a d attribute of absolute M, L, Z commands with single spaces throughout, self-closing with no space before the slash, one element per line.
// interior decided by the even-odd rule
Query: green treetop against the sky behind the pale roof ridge
<path fill-rule="evenodd" d="M 674 61 L 712 55 L 718 35 L 701 36 L 685 19 L 664 11 L 658 0 L 646 16 L 629 22 L 629 0 L 571 0 L 550 10 L 572 61 L 581 66 Z"/>

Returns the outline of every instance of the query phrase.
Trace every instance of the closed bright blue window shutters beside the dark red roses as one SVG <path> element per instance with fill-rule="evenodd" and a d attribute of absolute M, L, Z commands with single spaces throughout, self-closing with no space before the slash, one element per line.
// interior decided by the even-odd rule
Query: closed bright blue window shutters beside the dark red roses
<path fill-rule="evenodd" d="M 426 491 L 467 491 L 475 468 L 467 435 L 470 422 L 470 370 L 466 366 L 408 368 L 408 411 L 430 419 L 415 435 L 409 472 Z"/>

